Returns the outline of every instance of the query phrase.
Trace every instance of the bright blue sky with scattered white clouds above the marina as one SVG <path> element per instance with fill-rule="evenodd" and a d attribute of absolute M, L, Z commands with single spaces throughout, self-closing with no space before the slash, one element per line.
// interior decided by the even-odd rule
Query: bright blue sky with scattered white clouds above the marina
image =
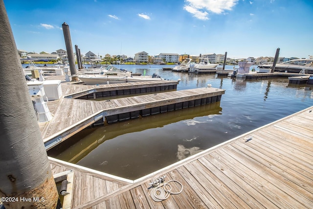
<path fill-rule="evenodd" d="M 104 56 L 224 54 L 247 58 L 313 55 L 312 0 L 4 0 L 18 49 L 73 47 Z M 75 51 L 75 50 L 74 50 Z"/>

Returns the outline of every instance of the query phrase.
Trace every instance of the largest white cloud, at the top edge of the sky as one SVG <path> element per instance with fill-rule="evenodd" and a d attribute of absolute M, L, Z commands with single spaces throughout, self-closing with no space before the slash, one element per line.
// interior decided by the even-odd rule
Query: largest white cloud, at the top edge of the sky
<path fill-rule="evenodd" d="M 225 10 L 231 10 L 238 0 L 186 0 L 184 10 L 193 14 L 200 20 L 209 20 L 207 12 L 221 14 Z"/>

